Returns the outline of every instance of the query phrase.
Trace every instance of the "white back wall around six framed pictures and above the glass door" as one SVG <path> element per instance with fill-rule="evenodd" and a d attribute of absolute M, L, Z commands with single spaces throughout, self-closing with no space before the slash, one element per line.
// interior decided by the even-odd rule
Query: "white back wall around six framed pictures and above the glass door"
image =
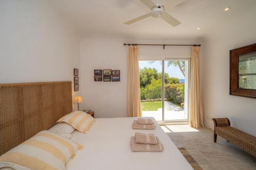
<path fill-rule="evenodd" d="M 117 35 L 86 35 L 81 42 L 81 109 L 96 117 L 125 117 L 127 98 L 127 46 L 123 43 L 195 44 L 199 40 L 135 39 Z M 191 47 L 139 46 L 139 59 L 190 58 Z M 94 69 L 120 69 L 120 82 L 94 82 Z"/>

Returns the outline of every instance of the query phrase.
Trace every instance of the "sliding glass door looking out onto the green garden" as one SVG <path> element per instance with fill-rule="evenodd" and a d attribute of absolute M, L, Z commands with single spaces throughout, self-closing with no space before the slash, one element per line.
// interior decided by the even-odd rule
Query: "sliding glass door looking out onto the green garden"
<path fill-rule="evenodd" d="M 189 59 L 141 60 L 139 67 L 142 116 L 187 121 Z"/>

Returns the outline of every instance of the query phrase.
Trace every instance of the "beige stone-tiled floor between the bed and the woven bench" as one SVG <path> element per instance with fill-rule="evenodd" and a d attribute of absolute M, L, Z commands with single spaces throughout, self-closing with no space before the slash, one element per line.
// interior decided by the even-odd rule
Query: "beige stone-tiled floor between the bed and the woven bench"
<path fill-rule="evenodd" d="M 188 125 L 168 125 L 162 129 L 177 147 L 185 148 L 204 170 L 256 169 L 256 158 L 228 143 L 220 136 L 213 141 L 213 131 Z"/>

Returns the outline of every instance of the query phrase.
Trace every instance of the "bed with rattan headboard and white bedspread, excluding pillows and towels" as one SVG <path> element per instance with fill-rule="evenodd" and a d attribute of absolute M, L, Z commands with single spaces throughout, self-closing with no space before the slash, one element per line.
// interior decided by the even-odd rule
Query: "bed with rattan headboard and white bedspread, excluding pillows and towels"
<path fill-rule="evenodd" d="M 72 109 L 71 81 L 0 84 L 0 155 L 43 130 Z M 193 169 L 155 121 L 155 130 L 134 130 L 136 117 L 97 118 L 89 132 L 72 133 L 84 148 L 67 164 L 75 169 Z M 132 152 L 135 132 L 154 133 L 163 152 Z"/>

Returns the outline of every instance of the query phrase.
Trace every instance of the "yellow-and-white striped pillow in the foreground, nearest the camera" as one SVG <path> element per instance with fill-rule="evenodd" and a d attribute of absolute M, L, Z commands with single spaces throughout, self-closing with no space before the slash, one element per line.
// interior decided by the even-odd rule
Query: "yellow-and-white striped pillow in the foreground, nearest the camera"
<path fill-rule="evenodd" d="M 66 164 L 83 147 L 50 131 L 41 131 L 0 156 L 0 168 L 66 169 Z"/>

